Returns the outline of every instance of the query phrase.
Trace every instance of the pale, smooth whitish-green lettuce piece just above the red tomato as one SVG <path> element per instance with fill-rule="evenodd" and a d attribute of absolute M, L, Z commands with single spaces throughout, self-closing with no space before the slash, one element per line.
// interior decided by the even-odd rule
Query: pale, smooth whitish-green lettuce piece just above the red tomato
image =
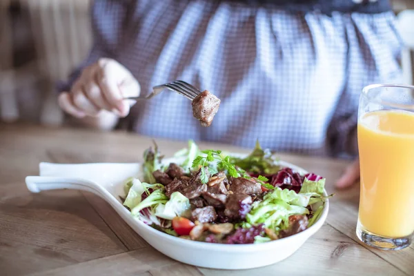
<path fill-rule="evenodd" d="M 155 215 L 163 219 L 188 217 L 190 208 L 190 200 L 181 193 L 174 192 L 166 204 L 158 204 L 155 208 Z"/>

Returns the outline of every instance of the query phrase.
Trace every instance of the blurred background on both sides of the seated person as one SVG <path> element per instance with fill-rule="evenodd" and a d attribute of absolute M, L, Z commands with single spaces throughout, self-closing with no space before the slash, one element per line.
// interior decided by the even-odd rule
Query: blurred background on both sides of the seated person
<path fill-rule="evenodd" d="M 0 121 L 60 126 L 56 84 L 88 54 L 92 0 L 0 0 Z M 413 83 L 414 0 L 391 1 Z"/>

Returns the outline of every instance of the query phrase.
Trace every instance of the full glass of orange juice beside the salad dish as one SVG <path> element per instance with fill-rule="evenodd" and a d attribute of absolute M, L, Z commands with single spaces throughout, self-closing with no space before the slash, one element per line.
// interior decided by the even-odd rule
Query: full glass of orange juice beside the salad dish
<path fill-rule="evenodd" d="M 405 248 L 414 232 L 414 86 L 366 86 L 357 128 L 357 236 L 375 248 Z"/>

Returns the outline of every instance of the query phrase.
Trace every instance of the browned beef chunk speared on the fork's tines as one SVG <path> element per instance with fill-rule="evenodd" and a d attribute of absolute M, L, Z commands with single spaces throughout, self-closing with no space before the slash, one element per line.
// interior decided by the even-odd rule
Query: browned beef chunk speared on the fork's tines
<path fill-rule="evenodd" d="M 210 126 L 219 110 L 220 99 L 208 90 L 204 90 L 193 99 L 191 104 L 193 106 L 193 116 L 200 121 L 201 126 Z"/>

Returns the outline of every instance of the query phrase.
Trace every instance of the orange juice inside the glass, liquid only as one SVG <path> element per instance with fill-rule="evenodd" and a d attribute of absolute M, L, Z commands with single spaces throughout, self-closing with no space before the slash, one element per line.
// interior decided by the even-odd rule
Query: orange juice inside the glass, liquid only
<path fill-rule="evenodd" d="M 382 237 L 414 231 L 414 112 L 368 112 L 358 122 L 359 222 Z"/>

